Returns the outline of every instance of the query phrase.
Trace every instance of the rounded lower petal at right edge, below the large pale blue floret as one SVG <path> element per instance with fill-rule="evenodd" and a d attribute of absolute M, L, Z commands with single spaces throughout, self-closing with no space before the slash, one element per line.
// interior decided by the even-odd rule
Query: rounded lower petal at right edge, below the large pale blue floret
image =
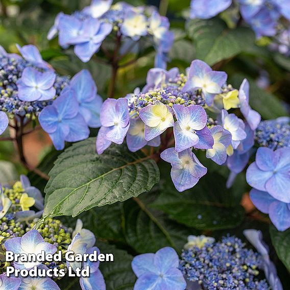
<path fill-rule="evenodd" d="M 269 208 L 269 217 L 278 231 L 290 228 L 290 210 L 284 202 L 273 202 Z"/>

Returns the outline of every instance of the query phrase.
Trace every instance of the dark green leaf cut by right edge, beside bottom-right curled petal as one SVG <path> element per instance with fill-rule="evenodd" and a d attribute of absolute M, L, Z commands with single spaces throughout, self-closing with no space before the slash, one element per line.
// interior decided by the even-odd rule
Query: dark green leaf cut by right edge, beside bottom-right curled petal
<path fill-rule="evenodd" d="M 273 225 L 270 226 L 272 244 L 279 259 L 290 271 L 290 229 L 279 232 Z"/>

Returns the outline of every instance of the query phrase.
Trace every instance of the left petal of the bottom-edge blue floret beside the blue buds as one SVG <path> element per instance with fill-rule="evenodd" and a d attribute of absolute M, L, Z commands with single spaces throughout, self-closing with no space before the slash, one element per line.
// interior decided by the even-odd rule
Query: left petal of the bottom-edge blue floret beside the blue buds
<path fill-rule="evenodd" d="M 144 274 L 151 273 L 157 274 L 158 268 L 154 263 L 154 256 L 153 253 L 141 254 L 135 256 L 132 260 L 132 270 L 137 277 L 140 277 Z"/>

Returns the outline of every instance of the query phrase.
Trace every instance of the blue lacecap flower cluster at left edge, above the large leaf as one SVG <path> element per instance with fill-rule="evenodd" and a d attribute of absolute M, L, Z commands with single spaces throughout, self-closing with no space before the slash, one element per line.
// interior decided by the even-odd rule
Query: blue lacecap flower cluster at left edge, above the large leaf
<path fill-rule="evenodd" d="M 8 117 L 15 122 L 22 118 L 24 126 L 38 117 L 55 148 L 61 150 L 65 141 L 86 139 L 89 127 L 100 127 L 103 101 L 88 70 L 70 80 L 58 76 L 35 46 L 18 49 L 23 58 L 0 50 L 0 134 L 8 126 Z"/>

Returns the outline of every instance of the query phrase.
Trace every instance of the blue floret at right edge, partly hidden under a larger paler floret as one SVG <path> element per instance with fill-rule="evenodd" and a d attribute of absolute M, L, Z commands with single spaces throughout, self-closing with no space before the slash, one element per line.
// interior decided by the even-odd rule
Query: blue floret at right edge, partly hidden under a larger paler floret
<path fill-rule="evenodd" d="M 250 198 L 258 210 L 269 214 L 277 230 L 284 231 L 290 228 L 290 203 L 279 201 L 268 192 L 254 188 L 250 191 Z"/>

